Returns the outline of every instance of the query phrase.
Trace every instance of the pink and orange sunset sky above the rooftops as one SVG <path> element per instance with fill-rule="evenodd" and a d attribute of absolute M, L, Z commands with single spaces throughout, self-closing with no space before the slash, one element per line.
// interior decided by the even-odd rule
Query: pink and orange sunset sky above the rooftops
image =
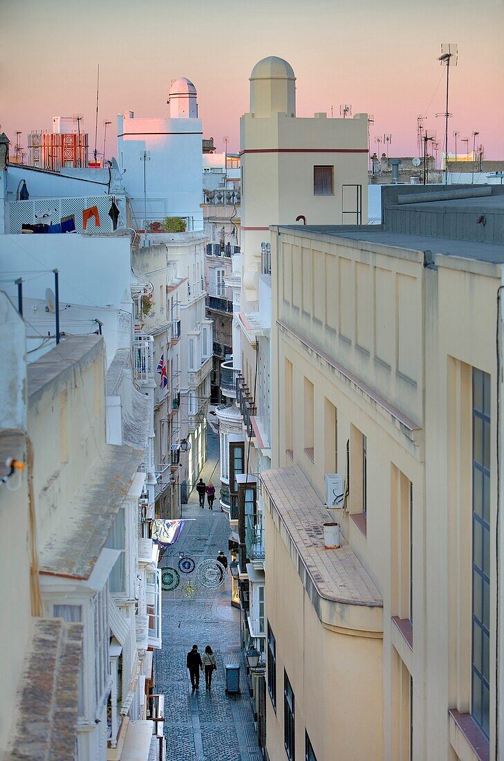
<path fill-rule="evenodd" d="M 477 131 L 486 158 L 504 158 L 504 0 L 0 0 L 0 17 L 0 131 L 13 145 L 16 130 L 26 146 L 52 116 L 84 113 L 92 151 L 100 63 L 98 151 L 107 120 L 116 154 L 117 113 L 167 115 L 180 76 L 198 90 L 204 135 L 237 151 L 250 72 L 274 55 L 296 73 L 298 116 L 350 103 L 374 116 L 372 151 L 388 133 L 390 155 L 414 155 L 419 114 L 444 132 L 436 59 L 440 43 L 457 43 L 449 148 L 453 130 Z"/>

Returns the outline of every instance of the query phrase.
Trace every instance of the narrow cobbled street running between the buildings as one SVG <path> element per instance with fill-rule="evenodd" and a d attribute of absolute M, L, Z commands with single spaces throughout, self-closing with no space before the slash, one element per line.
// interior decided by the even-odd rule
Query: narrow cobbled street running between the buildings
<path fill-rule="evenodd" d="M 219 442 L 208 428 L 208 460 L 201 473 L 204 482 L 211 479 L 219 491 Z M 178 570 L 179 552 L 194 559 L 196 568 L 203 559 L 215 559 L 220 549 L 227 554 L 230 534 L 227 514 L 220 512 L 217 499 L 214 510 L 201 510 L 195 490 L 189 504 L 182 506 L 188 521 L 177 542 L 161 563 L 163 568 Z M 179 573 L 179 585 L 163 592 L 163 649 L 157 651 L 157 685 L 165 695 L 167 761 L 259 761 L 261 753 L 255 733 L 252 705 L 246 682 L 246 664 L 239 648 L 239 611 L 231 607 L 231 577 L 217 591 L 207 589 L 196 580 L 196 573 Z M 183 584 L 197 584 L 193 599 L 184 594 Z M 191 689 L 185 655 L 198 645 L 203 654 L 211 645 L 217 659 L 211 691 L 204 686 Z M 225 664 L 241 664 L 242 693 L 226 695 Z"/>

